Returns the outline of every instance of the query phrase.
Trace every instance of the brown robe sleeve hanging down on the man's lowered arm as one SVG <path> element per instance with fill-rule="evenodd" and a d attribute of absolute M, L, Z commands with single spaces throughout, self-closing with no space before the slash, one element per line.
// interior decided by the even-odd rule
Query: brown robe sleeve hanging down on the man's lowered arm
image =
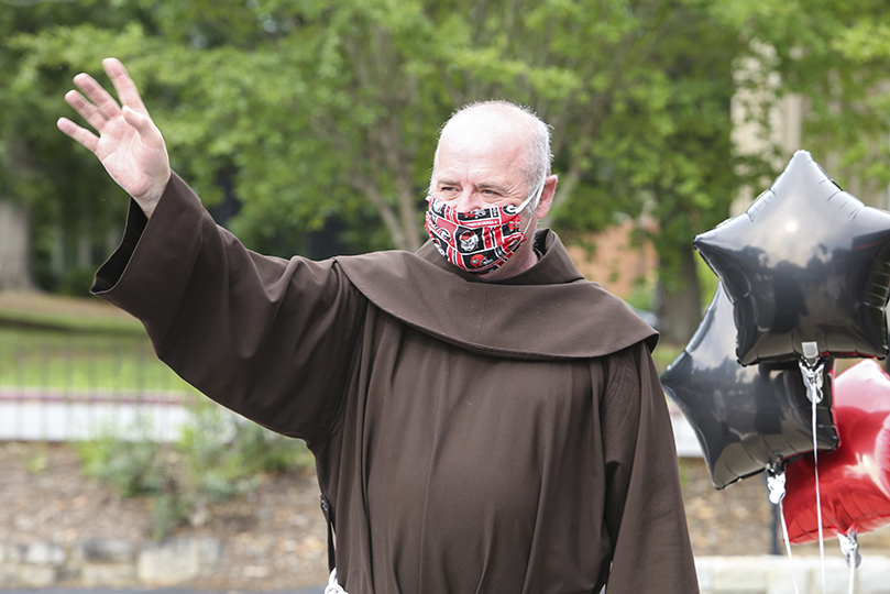
<path fill-rule="evenodd" d="M 608 594 L 699 592 L 673 430 L 649 350 L 611 358 L 602 400 Z"/>

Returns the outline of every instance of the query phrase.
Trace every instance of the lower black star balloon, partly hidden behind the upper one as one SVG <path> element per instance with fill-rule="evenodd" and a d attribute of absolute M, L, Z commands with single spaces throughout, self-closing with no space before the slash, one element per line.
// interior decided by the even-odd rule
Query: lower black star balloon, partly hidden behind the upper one
<path fill-rule="evenodd" d="M 735 336 L 733 304 L 719 286 L 695 336 L 661 374 L 664 393 L 695 430 L 717 488 L 813 451 L 812 403 L 798 364 L 741 366 Z M 825 371 L 816 406 L 820 449 L 837 446 L 831 407 L 832 375 Z"/>

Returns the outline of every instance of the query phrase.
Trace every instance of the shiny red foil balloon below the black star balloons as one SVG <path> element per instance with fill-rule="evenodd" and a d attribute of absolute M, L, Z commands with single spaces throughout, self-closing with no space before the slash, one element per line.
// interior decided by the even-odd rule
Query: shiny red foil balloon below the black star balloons
<path fill-rule="evenodd" d="M 890 375 L 873 360 L 834 382 L 840 444 L 818 453 L 823 536 L 869 532 L 890 524 Z M 813 455 L 785 468 L 782 512 L 793 543 L 818 540 Z"/>

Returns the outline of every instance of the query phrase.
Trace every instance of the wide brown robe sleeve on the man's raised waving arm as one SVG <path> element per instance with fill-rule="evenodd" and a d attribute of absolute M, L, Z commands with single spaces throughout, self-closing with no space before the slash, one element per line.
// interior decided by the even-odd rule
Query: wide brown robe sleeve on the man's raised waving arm
<path fill-rule="evenodd" d="M 92 293 L 139 318 L 162 361 L 235 413 L 310 447 L 336 422 L 364 297 L 333 261 L 246 250 L 175 174 L 151 220 L 131 204 Z"/>

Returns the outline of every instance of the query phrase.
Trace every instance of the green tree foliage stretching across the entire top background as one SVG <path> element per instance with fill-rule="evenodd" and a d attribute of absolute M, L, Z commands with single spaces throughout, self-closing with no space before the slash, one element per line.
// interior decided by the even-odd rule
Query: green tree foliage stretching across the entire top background
<path fill-rule="evenodd" d="M 70 77 L 102 78 L 117 55 L 174 168 L 210 207 L 235 205 L 227 224 L 250 246 L 305 251 L 334 221 L 341 249 L 416 249 L 437 130 L 463 103 L 505 98 L 553 125 L 547 222 L 580 238 L 648 212 L 678 295 L 694 283 L 692 237 L 781 162 L 733 146 L 739 87 L 766 91 L 759 113 L 805 96 L 805 147 L 831 153 L 842 182 L 890 180 L 888 12 L 881 0 L 17 2 L 0 11 L 0 190 L 41 223 L 120 220 L 120 191 L 53 125 Z M 757 76 L 738 77 L 745 59 Z"/>

